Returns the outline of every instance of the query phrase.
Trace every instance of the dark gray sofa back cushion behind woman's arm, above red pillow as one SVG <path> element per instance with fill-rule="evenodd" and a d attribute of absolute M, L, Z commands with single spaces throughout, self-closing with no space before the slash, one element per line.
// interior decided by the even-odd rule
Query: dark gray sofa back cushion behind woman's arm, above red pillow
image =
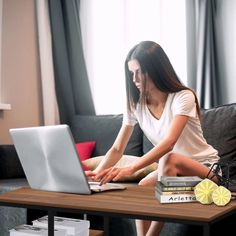
<path fill-rule="evenodd" d="M 70 127 L 76 142 L 96 140 L 93 156 L 104 155 L 112 146 L 122 125 L 122 115 L 76 115 Z M 142 155 L 142 131 L 135 126 L 134 132 L 125 149 L 125 154 Z"/>

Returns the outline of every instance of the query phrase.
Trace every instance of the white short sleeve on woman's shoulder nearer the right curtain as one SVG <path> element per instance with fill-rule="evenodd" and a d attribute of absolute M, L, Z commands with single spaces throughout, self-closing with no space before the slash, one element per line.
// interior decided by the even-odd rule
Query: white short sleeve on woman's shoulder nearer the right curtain
<path fill-rule="evenodd" d="M 172 111 L 174 115 L 196 117 L 197 110 L 193 92 L 182 90 L 176 93 L 172 104 Z"/>

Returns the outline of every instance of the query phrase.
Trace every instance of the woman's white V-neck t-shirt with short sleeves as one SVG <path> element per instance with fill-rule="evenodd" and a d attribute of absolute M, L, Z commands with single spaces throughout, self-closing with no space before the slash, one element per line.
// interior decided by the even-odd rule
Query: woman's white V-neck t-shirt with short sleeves
<path fill-rule="evenodd" d="M 189 120 L 177 140 L 172 152 L 190 157 L 203 164 L 213 164 L 219 160 L 218 152 L 203 137 L 200 120 L 197 115 L 194 94 L 190 90 L 170 93 L 160 119 L 155 118 L 148 107 L 141 105 L 133 113 L 125 112 L 123 123 L 139 123 L 146 137 L 155 146 L 165 137 L 175 115 L 189 116 Z"/>

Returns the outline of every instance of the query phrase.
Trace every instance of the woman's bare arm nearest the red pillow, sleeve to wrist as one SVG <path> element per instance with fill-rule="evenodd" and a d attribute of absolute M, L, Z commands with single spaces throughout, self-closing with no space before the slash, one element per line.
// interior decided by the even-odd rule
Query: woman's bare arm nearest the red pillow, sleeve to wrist
<path fill-rule="evenodd" d="M 133 129 L 134 127 L 131 125 L 121 126 L 114 144 L 108 150 L 98 167 L 94 170 L 95 173 L 99 173 L 104 169 L 114 166 L 120 160 L 133 133 Z"/>

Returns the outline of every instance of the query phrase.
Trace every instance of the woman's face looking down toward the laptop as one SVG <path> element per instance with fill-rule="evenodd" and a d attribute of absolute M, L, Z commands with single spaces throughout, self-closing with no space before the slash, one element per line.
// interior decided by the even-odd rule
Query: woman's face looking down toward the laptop
<path fill-rule="evenodd" d="M 143 74 L 141 71 L 141 66 L 137 60 L 131 60 L 128 62 L 129 71 L 132 73 L 133 82 L 135 86 L 141 91 Z"/>

